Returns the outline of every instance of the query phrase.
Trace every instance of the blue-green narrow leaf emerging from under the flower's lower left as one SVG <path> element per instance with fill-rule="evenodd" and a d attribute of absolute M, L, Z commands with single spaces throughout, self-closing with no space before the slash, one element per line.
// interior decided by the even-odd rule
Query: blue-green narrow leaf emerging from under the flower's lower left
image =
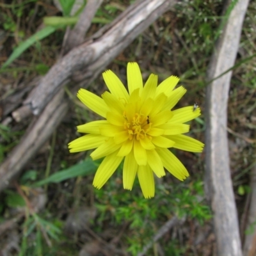
<path fill-rule="evenodd" d="M 71 179 L 77 176 L 85 176 L 95 172 L 97 168 L 97 163 L 93 162 L 92 159 L 88 158 L 82 163 L 76 164 L 66 170 L 54 173 L 47 179 L 40 180 L 33 184 L 33 187 L 42 186 L 48 183 L 59 183 L 63 180 Z"/>

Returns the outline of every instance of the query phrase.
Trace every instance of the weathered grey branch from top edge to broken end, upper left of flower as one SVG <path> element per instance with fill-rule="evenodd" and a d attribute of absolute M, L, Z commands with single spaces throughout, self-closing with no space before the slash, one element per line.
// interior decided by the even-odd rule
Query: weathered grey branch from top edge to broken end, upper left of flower
<path fill-rule="evenodd" d="M 133 8 L 128 8 L 124 17 L 117 23 L 114 21 L 113 26 L 100 38 L 94 38 L 92 42 L 86 42 L 68 52 L 49 70 L 32 97 L 26 100 L 34 115 L 40 114 L 54 94 L 60 90 L 61 84 L 70 81 L 74 72 L 83 70 L 84 75 L 81 80 L 92 77 L 94 71 L 102 66 L 102 63 L 99 63 L 102 56 L 109 55 L 109 52 L 111 56 L 120 52 L 120 49 L 124 49 L 124 45 L 125 47 L 129 45 L 148 27 L 148 24 L 159 17 L 157 13 L 163 13 L 170 3 L 175 2 L 174 0 L 140 1 Z"/>

